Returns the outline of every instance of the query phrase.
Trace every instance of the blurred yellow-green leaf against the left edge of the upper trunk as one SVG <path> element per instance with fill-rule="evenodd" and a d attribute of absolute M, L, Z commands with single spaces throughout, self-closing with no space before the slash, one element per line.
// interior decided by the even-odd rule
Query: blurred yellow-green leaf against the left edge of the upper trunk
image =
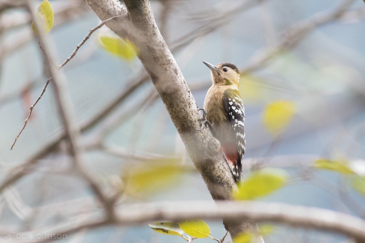
<path fill-rule="evenodd" d="M 117 35 L 99 35 L 98 43 L 105 51 L 127 61 L 134 59 L 137 54 L 137 47 L 132 42 L 127 39 L 123 40 Z"/>

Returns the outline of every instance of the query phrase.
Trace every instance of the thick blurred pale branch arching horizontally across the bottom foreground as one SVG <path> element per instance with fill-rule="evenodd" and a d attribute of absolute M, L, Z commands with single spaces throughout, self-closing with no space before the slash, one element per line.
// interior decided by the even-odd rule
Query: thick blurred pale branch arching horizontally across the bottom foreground
<path fill-rule="evenodd" d="M 215 205 L 216 204 L 216 205 Z M 187 219 L 221 220 L 245 219 L 253 222 L 272 222 L 314 230 L 331 231 L 350 238 L 358 243 L 365 242 L 365 220 L 358 217 L 328 209 L 289 205 L 284 203 L 267 203 L 260 201 L 158 201 L 122 205 L 116 222 L 88 219 L 80 225 L 61 224 L 58 230 L 50 234 L 73 234 L 83 228 L 95 228 L 107 224 L 133 226 L 150 222 L 179 222 Z M 92 222 L 92 223 L 90 223 Z M 49 232 L 49 228 L 37 230 Z M 36 233 L 37 233 L 36 232 Z M 52 239 L 40 240 L 37 243 L 50 242 Z M 18 242 L 18 241 L 17 241 Z"/>

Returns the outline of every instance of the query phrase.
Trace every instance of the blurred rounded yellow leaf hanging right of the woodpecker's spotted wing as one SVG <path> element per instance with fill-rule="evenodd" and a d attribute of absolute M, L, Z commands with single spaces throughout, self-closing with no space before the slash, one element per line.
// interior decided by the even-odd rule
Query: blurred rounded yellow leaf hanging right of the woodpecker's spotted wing
<path fill-rule="evenodd" d="M 291 101 L 275 101 L 265 107 L 263 124 L 265 128 L 277 135 L 290 123 L 295 111 L 295 104 Z"/>

